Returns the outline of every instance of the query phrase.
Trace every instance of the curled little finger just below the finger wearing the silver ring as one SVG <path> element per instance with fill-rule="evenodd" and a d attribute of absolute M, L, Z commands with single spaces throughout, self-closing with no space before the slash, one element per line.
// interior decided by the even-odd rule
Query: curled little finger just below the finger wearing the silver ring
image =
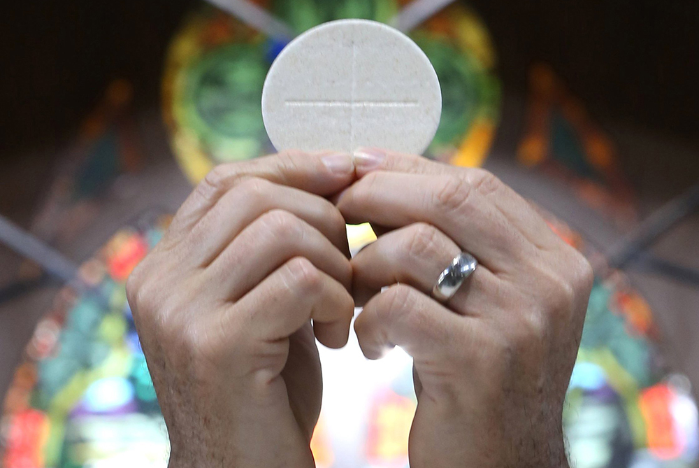
<path fill-rule="evenodd" d="M 366 303 L 354 320 L 362 353 L 382 357 L 387 349 L 401 346 L 415 359 L 439 362 L 449 351 L 468 343 L 473 319 L 456 315 L 408 285 L 393 285 Z"/>

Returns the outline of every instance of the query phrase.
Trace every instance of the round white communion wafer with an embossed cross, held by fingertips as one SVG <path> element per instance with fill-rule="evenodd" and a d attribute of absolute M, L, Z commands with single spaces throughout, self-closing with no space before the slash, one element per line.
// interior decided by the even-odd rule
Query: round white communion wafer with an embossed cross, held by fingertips
<path fill-rule="evenodd" d="M 440 121 L 432 64 L 405 34 L 368 20 L 321 24 L 291 41 L 262 92 L 267 134 L 281 150 L 387 148 L 421 154 Z"/>

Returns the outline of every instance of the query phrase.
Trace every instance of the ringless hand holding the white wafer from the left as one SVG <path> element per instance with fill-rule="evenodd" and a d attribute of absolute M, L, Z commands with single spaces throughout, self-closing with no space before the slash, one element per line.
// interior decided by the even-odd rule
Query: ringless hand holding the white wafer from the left
<path fill-rule="evenodd" d="M 314 334 L 344 346 L 354 311 L 345 221 L 324 197 L 353 180 L 350 155 L 218 166 L 129 277 L 170 467 L 314 466 Z"/>

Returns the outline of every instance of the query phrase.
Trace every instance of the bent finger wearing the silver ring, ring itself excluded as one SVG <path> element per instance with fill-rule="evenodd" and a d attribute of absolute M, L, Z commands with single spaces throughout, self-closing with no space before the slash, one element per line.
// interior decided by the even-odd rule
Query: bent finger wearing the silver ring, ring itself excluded
<path fill-rule="evenodd" d="M 439 275 L 459 253 L 459 246 L 446 234 L 421 222 L 380 236 L 350 262 L 354 302 L 362 306 L 382 288 L 396 283 L 430 295 Z M 498 278 L 480 265 L 447 306 L 462 315 L 482 315 L 492 305 L 498 283 Z"/>

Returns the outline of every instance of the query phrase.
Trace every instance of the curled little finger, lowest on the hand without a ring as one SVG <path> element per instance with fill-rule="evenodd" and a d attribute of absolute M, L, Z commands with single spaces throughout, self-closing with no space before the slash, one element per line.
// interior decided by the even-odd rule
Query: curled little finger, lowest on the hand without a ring
<path fill-rule="evenodd" d="M 287 338 L 313 320 L 317 339 L 329 348 L 347 343 L 354 302 L 335 279 L 308 259 L 295 257 L 243 296 L 224 317 L 224 326 L 245 329 L 250 338 Z"/>

